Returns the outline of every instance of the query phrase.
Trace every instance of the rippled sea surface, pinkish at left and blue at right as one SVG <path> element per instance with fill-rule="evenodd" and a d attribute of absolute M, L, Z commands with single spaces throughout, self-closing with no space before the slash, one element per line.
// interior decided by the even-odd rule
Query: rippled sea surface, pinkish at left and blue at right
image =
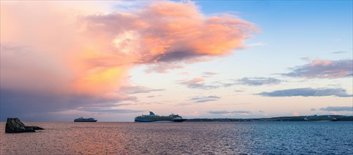
<path fill-rule="evenodd" d="M 353 154 L 353 122 L 25 124 L 0 154 Z"/>

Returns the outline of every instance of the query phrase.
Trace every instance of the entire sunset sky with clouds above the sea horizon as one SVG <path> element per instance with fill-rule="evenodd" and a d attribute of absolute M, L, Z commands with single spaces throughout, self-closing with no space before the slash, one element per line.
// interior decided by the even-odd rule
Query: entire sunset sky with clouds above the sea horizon
<path fill-rule="evenodd" d="M 352 1 L 1 1 L 0 120 L 353 115 Z"/>

